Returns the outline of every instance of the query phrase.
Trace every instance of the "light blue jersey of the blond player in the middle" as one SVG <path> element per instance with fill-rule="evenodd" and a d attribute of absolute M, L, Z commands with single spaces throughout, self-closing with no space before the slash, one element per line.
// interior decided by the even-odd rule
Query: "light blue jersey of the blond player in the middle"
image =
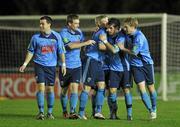
<path fill-rule="evenodd" d="M 97 60 L 97 61 L 103 61 L 105 58 L 105 55 L 103 52 L 99 50 L 99 43 L 102 43 L 102 41 L 99 39 L 101 35 L 106 36 L 106 30 L 105 28 L 100 28 L 96 32 L 93 33 L 92 39 L 96 42 L 95 45 L 88 45 L 86 47 L 86 55 Z"/>

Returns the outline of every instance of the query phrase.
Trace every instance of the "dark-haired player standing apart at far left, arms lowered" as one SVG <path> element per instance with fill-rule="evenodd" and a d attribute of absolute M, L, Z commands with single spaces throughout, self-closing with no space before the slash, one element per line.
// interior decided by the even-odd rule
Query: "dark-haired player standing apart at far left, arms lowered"
<path fill-rule="evenodd" d="M 19 68 L 24 72 L 26 66 L 33 57 L 35 76 L 37 82 L 37 104 L 39 108 L 38 120 L 44 120 L 44 94 L 47 90 L 47 118 L 54 119 L 52 115 L 54 105 L 54 82 L 56 74 L 57 56 L 62 61 L 61 73 L 66 74 L 65 48 L 59 33 L 51 29 L 53 20 L 49 16 L 40 18 L 40 33 L 32 36 L 28 46 L 28 52 L 23 65 Z"/>

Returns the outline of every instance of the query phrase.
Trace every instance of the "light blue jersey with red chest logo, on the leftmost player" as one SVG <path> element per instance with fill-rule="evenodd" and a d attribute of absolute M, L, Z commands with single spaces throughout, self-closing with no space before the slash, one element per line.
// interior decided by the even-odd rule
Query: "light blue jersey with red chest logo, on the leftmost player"
<path fill-rule="evenodd" d="M 50 35 L 41 33 L 32 36 L 28 51 L 34 54 L 33 61 L 43 66 L 56 66 L 57 54 L 65 53 L 61 36 L 51 31 Z"/>

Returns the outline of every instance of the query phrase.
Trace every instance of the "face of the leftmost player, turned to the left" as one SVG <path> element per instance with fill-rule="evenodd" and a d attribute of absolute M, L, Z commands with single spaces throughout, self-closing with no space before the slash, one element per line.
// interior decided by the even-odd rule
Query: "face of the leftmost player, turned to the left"
<path fill-rule="evenodd" d="M 47 21 L 45 19 L 40 20 L 40 31 L 43 33 L 47 33 L 50 30 L 51 24 L 47 23 Z"/>

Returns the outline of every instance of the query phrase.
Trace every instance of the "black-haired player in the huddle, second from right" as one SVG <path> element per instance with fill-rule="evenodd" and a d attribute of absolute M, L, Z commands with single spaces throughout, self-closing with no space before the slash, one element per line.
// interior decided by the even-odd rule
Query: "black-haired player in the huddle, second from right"
<path fill-rule="evenodd" d="M 110 55 L 110 77 L 109 77 L 109 95 L 108 105 L 110 108 L 110 119 L 119 119 L 117 117 L 117 89 L 122 88 L 124 92 L 127 120 L 132 120 L 132 95 L 130 88 L 132 87 L 130 80 L 130 65 L 128 56 L 120 50 L 124 45 L 125 34 L 120 30 L 120 21 L 116 18 L 109 19 L 107 25 L 108 39 L 102 39 Z"/>

